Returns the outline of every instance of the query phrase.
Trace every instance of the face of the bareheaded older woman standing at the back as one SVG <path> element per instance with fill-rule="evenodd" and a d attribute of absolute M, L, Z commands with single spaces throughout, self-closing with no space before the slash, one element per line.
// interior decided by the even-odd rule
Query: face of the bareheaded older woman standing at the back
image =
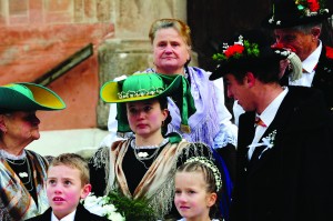
<path fill-rule="evenodd" d="M 160 29 L 153 40 L 153 56 L 157 72 L 183 73 L 184 63 L 190 60 L 190 47 L 174 28 Z"/>

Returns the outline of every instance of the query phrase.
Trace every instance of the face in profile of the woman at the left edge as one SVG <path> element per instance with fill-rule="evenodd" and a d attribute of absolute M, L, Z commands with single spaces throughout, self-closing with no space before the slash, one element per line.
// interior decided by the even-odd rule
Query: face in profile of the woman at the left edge
<path fill-rule="evenodd" d="M 40 138 L 39 123 L 36 111 L 16 111 L 2 114 L 1 131 L 8 139 L 29 144 Z"/>

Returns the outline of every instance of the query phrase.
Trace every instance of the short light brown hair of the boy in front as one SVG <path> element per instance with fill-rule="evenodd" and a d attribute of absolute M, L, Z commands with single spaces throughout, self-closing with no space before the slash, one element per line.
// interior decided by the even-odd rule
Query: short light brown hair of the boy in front
<path fill-rule="evenodd" d="M 89 167 L 81 155 L 77 153 L 62 153 L 53 158 L 53 160 L 51 161 L 50 168 L 56 165 L 67 165 L 73 169 L 78 169 L 81 173 L 80 178 L 82 187 L 90 183 Z"/>

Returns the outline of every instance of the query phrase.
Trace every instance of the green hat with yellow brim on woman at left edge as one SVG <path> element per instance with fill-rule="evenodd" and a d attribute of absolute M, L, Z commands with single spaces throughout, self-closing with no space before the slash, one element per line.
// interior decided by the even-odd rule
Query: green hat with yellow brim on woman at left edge
<path fill-rule="evenodd" d="M 36 83 L 19 82 L 0 87 L 1 111 L 62 110 L 63 100 L 52 90 Z"/>

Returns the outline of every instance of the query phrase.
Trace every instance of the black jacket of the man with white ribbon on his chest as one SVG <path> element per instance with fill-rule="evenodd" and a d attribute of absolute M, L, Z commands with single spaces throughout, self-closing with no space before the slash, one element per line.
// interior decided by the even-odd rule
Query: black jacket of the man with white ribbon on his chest
<path fill-rule="evenodd" d="M 249 162 L 254 112 L 240 117 L 238 175 L 231 221 L 332 221 L 333 160 L 330 113 L 319 90 L 289 87 L 262 138 L 274 145 Z"/>

